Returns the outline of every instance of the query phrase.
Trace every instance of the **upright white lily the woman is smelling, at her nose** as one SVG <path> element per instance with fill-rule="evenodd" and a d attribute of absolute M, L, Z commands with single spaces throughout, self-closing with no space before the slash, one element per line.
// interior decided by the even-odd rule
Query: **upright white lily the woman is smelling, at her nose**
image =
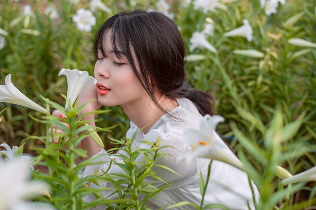
<path fill-rule="evenodd" d="M 58 73 L 58 76 L 60 75 L 66 75 L 67 77 L 68 89 L 65 110 L 67 110 L 68 101 L 70 101 L 70 106 L 72 106 L 82 89 L 88 83 L 97 83 L 97 80 L 89 76 L 87 71 L 78 71 L 77 69 L 71 70 L 63 68 Z"/>

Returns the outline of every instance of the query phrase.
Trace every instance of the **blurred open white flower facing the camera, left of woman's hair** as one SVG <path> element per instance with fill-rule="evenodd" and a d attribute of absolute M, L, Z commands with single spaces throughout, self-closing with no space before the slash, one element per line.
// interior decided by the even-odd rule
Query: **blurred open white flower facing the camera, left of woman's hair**
<path fill-rule="evenodd" d="M 91 11 L 85 9 L 77 10 L 77 14 L 72 17 L 72 21 L 77 23 L 79 31 L 91 32 L 92 26 L 96 24 L 96 18 Z"/>

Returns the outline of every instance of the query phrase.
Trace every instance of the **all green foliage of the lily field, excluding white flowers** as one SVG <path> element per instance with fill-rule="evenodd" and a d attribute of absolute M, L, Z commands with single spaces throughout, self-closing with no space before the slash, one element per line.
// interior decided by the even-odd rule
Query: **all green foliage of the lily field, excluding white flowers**
<path fill-rule="evenodd" d="M 60 94 L 66 93 L 66 80 L 57 77 L 61 68 L 87 70 L 91 75 L 95 62 L 93 37 L 98 27 L 118 11 L 135 8 L 131 0 L 124 1 L 125 6 L 121 5 L 121 1 L 103 0 L 112 12 L 94 12 L 97 23 L 92 31 L 80 32 L 71 17 L 77 9 L 87 9 L 88 0 L 81 0 L 77 4 L 72 4 L 70 0 L 26 2 L 33 8 L 31 15 L 22 14 L 21 3 L 2 0 L 0 4 L 0 28 L 8 32 L 6 45 L 0 50 L 0 81 L 3 84 L 5 76 L 12 74 L 16 87 L 39 104 L 43 104 L 40 95 L 51 101 L 64 101 Z M 155 0 L 137 2 L 154 8 L 156 3 Z M 50 19 L 43 12 L 52 3 L 60 16 L 56 20 Z M 262 194 L 258 208 L 303 209 L 311 206 L 316 202 L 315 183 L 306 183 L 305 186 L 293 184 L 281 190 L 280 179 L 275 177 L 274 172 L 276 165 L 286 168 L 291 174 L 297 174 L 316 164 L 316 49 L 294 46 L 288 41 L 291 38 L 301 38 L 316 43 L 316 2 L 287 0 L 284 5 L 280 3 L 278 12 L 271 16 L 266 16 L 259 0 L 221 0 L 221 3 L 223 7 L 204 14 L 194 9 L 193 1 L 189 4 L 172 1 L 171 11 L 175 14 L 175 22 L 183 36 L 187 54 L 192 53 L 198 58 L 187 60 L 187 79 L 193 87 L 215 98 L 214 113 L 226 119 L 226 123 L 218 126 L 218 132 L 225 136 L 235 136 L 230 145 L 238 151 L 238 157 L 246 165 L 246 172 Z M 204 29 L 207 17 L 214 23 L 214 34 L 207 36 L 207 40 L 218 53 L 203 48 L 190 52 L 189 40 L 193 32 Z M 253 41 L 248 42 L 244 37 L 224 36 L 225 32 L 242 26 L 245 18 L 253 29 Z M 263 57 L 249 57 L 236 51 L 244 49 L 257 50 L 263 53 Z M 59 107 L 51 101 L 46 100 L 52 107 L 63 110 L 63 104 L 59 104 Z M 123 137 L 129 127 L 121 107 L 103 107 L 102 110 L 111 109 L 112 112 L 96 113 L 100 119 L 97 121 L 97 130 L 105 148 L 114 147 L 109 151 L 117 150 L 118 147 L 111 145 L 107 137 L 116 144 L 124 145 L 122 149 L 128 154 L 122 156 L 124 164 L 115 160 L 111 164 L 122 166 L 128 178 L 123 175 L 114 178 L 114 175 L 105 172 L 101 177 L 78 176 L 79 169 L 90 162 L 82 162 L 81 166 L 79 164 L 76 167 L 70 163 L 77 157 L 85 157 L 85 152 L 76 148 L 76 145 L 88 134 L 88 131 L 85 134 L 80 132 L 91 129 L 83 126 L 80 117 L 75 116 L 78 110 L 65 113 L 69 114 L 64 121 L 71 125 L 68 129 L 53 116 L 40 118 L 41 113 L 0 104 L 0 110 L 4 107 L 6 110 L 2 113 L 0 123 L 0 143 L 20 145 L 26 138 L 24 151 L 35 154 L 36 150 L 39 156 L 35 162 L 49 168 L 48 175 L 38 172 L 33 174 L 33 178 L 45 179 L 53 187 L 50 193 L 52 199 L 42 197 L 42 200 L 52 202 L 60 209 L 74 208 L 73 205 L 78 209 L 87 208 L 89 204 L 80 201 L 83 196 L 81 192 L 87 189 L 87 194 L 100 196 L 99 191 L 102 189 L 86 188 L 86 183 L 97 183 L 98 180 L 112 183 L 115 189 L 120 189 L 117 194 L 123 192 L 120 196 L 125 200 L 122 203 L 115 201 L 116 205 L 113 205 L 112 201 L 107 202 L 100 196 L 94 205 L 103 202 L 109 208 L 144 209 L 145 202 L 136 201 L 138 194 L 146 194 L 144 200 L 155 195 L 153 192 L 157 189 L 150 183 L 146 185 L 143 180 L 145 177 L 159 179 L 151 167 L 154 159 L 164 154 L 158 153 L 155 146 L 148 151 L 130 150 L 132 140 L 126 143 L 115 140 Z M 55 123 L 67 130 L 67 138 L 60 137 L 58 144 L 49 143 L 47 123 Z M 102 129 L 113 125 L 117 127 L 112 128 L 112 132 Z M 72 133 L 76 128 L 79 128 L 78 136 Z M 51 136 L 54 136 L 53 130 Z M 134 162 L 140 153 L 146 157 L 142 165 Z M 45 162 L 40 162 L 43 159 Z M 128 183 L 129 187 L 122 187 L 117 180 Z M 73 186 L 70 183 L 77 184 Z M 310 194 L 307 194 L 307 201 L 297 204 L 295 198 L 301 195 L 299 189 Z M 126 195 L 131 197 L 125 198 Z"/>

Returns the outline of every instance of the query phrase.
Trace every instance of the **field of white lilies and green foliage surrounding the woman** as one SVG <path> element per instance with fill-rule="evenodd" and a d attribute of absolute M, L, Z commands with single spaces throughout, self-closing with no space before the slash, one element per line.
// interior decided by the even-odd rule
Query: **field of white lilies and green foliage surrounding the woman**
<path fill-rule="evenodd" d="M 205 117 L 200 130 L 187 134 L 207 139 L 218 133 L 216 138 L 224 139 L 239 161 L 220 150 L 211 153 L 218 142 L 205 141 L 210 146 L 207 158 L 246 171 L 260 193 L 256 210 L 315 209 L 315 0 L 1 0 L 0 153 L 5 160 L 0 161 L 0 210 L 85 210 L 97 205 L 144 210 L 149 198 L 170 185 L 157 189 L 141 179 L 157 178 L 150 170 L 151 161 L 164 155 L 159 140 L 140 151 L 151 157 L 146 171 L 123 157 L 126 175 L 136 178 L 130 182 L 106 171 L 80 177 L 80 170 L 93 160 L 74 165 L 76 157 L 85 157 L 85 151 L 76 148 L 85 135 L 94 135 L 108 151 L 123 145 L 131 157 L 139 155 L 124 139 L 129 119 L 123 109 L 98 110 L 96 135 L 77 116 L 82 107 L 76 107 L 80 91 L 75 93 L 74 88 L 94 82 L 88 74 L 93 76 L 93 40 L 99 26 L 118 12 L 136 8 L 162 12 L 176 22 L 186 47 L 188 83 L 208 92 L 214 98 L 214 114 L 225 119 Z M 70 77 L 77 79 L 68 81 Z M 64 126 L 49 114 L 54 109 L 67 116 L 69 141 L 57 135 L 58 144 L 51 143 L 51 125 Z M 217 123 L 215 132 L 210 125 Z M 76 136 L 77 129 L 85 132 Z M 182 158 L 192 159 L 194 154 L 186 155 Z M 29 162 L 7 163 L 14 157 Z M 103 198 L 100 192 L 108 189 L 89 187 L 102 181 L 124 192 L 120 199 Z M 16 188 L 3 190 L 9 186 Z M 205 183 L 200 187 L 202 194 Z M 84 201 L 87 194 L 96 200 Z M 146 195 L 143 201 L 138 201 L 139 194 Z M 197 210 L 227 209 L 191 203 L 168 208 L 188 205 Z"/>

